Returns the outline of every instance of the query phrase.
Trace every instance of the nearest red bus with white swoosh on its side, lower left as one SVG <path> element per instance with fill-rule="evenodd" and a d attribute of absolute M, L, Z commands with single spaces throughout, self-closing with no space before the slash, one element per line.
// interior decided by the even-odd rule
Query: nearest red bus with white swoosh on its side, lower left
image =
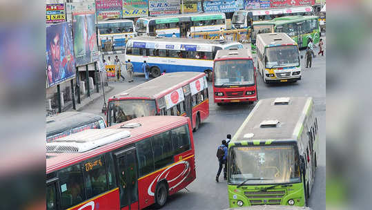
<path fill-rule="evenodd" d="M 190 120 L 139 117 L 46 146 L 46 209 L 162 207 L 195 180 Z"/>

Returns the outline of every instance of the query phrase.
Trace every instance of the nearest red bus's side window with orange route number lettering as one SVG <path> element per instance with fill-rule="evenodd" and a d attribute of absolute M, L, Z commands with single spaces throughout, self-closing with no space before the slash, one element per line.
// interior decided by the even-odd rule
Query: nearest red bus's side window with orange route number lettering
<path fill-rule="evenodd" d="M 86 196 L 92 198 L 108 190 L 106 164 L 103 156 L 84 162 Z"/>

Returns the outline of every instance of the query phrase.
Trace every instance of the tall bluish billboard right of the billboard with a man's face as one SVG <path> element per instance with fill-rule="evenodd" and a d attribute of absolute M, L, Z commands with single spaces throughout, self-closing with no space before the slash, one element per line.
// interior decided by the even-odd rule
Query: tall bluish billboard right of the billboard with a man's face
<path fill-rule="evenodd" d="M 72 32 L 76 66 L 90 64 L 99 59 L 95 12 L 72 12 Z"/>

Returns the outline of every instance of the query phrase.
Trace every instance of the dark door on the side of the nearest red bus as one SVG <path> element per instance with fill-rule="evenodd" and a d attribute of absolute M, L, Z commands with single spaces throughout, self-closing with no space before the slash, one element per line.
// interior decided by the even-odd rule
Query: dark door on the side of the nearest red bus
<path fill-rule="evenodd" d="M 139 209 L 138 174 L 135 147 L 115 153 L 120 209 Z"/>

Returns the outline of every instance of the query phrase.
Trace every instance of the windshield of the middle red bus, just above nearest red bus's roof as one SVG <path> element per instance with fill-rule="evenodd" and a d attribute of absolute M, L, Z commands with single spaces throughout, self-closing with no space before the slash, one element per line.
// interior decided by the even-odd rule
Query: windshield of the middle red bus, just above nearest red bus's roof
<path fill-rule="evenodd" d="M 108 105 L 109 124 L 126 122 L 137 117 L 155 115 L 155 100 L 119 100 Z"/>

